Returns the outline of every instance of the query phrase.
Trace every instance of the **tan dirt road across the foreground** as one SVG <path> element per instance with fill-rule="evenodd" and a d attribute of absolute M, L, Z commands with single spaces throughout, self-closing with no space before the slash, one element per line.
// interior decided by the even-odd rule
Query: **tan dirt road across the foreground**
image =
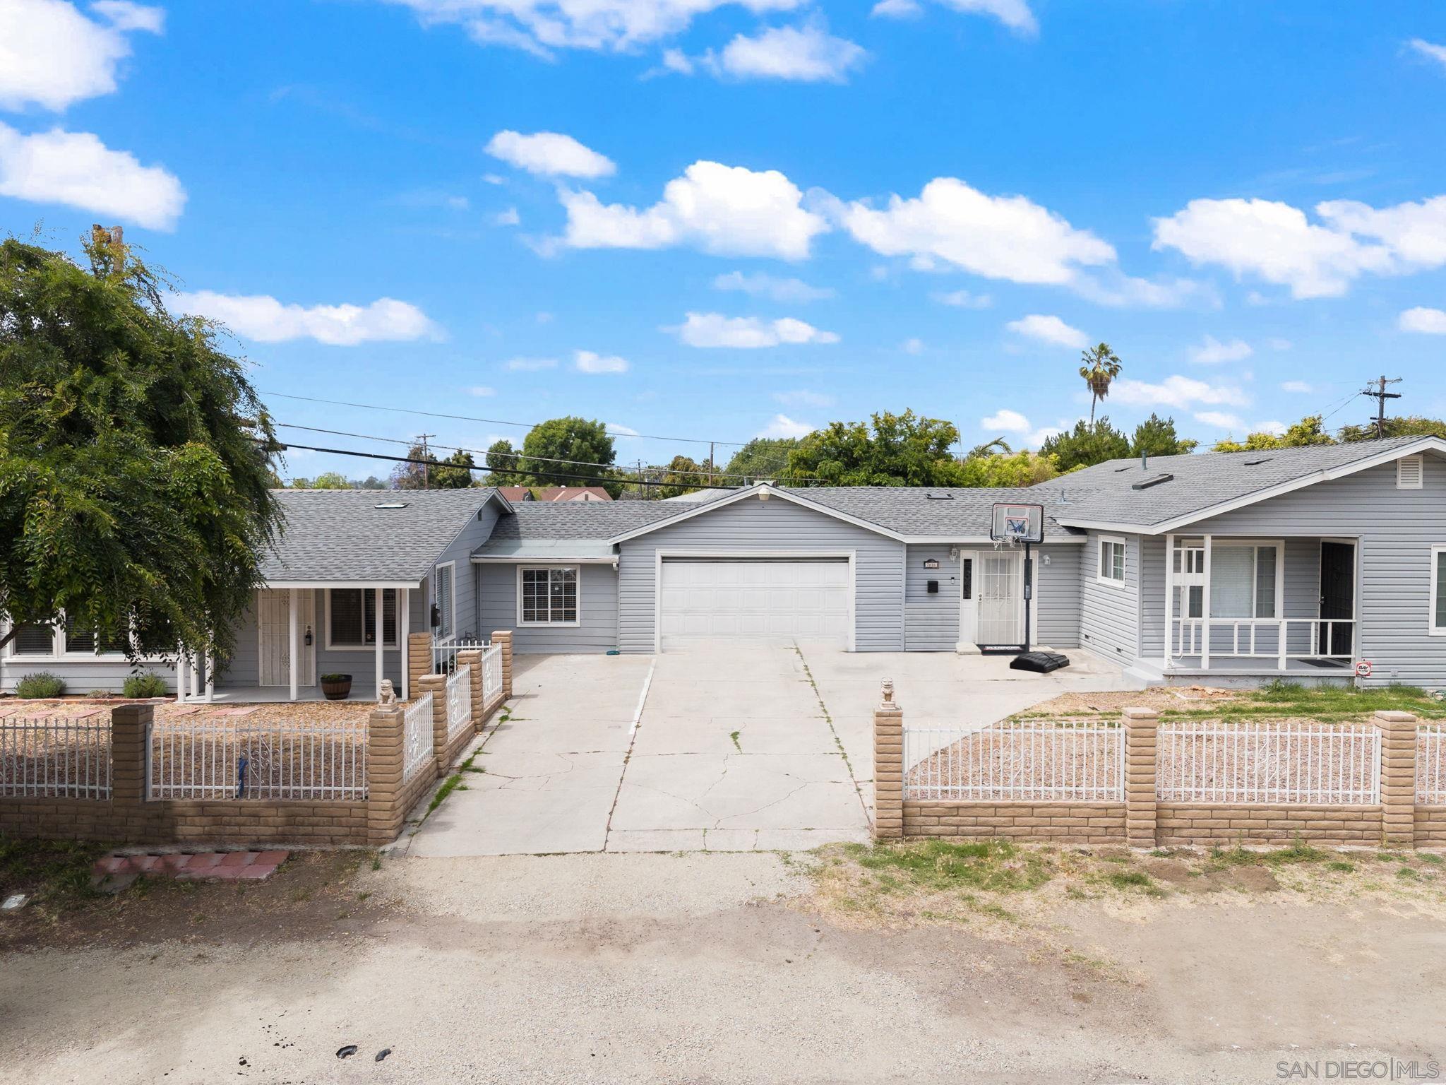
<path fill-rule="evenodd" d="M 1413 904 L 1076 900 L 1001 935 L 842 917 L 771 854 L 333 875 L 12 943 L 0 1081 L 1268 1082 L 1283 1059 L 1446 1059 L 1446 922 Z"/>

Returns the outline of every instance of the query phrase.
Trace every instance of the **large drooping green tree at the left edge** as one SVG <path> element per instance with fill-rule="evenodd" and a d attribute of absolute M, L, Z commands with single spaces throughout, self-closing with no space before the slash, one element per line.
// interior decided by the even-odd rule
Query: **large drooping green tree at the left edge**
<path fill-rule="evenodd" d="M 0 618 L 230 654 L 279 527 L 276 435 L 217 328 L 95 227 L 0 243 Z"/>

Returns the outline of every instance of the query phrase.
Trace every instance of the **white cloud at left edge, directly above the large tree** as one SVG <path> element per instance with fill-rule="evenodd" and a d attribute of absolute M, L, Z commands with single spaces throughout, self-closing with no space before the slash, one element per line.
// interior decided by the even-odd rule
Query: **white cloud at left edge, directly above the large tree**
<path fill-rule="evenodd" d="M 88 132 L 51 129 L 22 136 L 0 123 L 0 195 L 169 230 L 185 207 L 185 188 L 162 166 L 143 166 Z"/>

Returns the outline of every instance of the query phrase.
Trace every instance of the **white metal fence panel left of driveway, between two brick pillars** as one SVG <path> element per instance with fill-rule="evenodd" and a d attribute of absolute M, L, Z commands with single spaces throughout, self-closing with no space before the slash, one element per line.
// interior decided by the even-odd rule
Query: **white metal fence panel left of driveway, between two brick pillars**
<path fill-rule="evenodd" d="M 366 799 L 366 758 L 364 723 L 158 722 L 146 799 Z"/>

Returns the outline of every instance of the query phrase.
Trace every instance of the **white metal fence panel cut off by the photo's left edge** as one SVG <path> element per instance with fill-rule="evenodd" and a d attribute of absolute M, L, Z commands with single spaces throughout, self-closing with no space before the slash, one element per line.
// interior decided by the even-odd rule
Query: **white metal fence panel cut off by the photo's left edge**
<path fill-rule="evenodd" d="M 110 799 L 110 716 L 0 719 L 0 796 Z"/>

